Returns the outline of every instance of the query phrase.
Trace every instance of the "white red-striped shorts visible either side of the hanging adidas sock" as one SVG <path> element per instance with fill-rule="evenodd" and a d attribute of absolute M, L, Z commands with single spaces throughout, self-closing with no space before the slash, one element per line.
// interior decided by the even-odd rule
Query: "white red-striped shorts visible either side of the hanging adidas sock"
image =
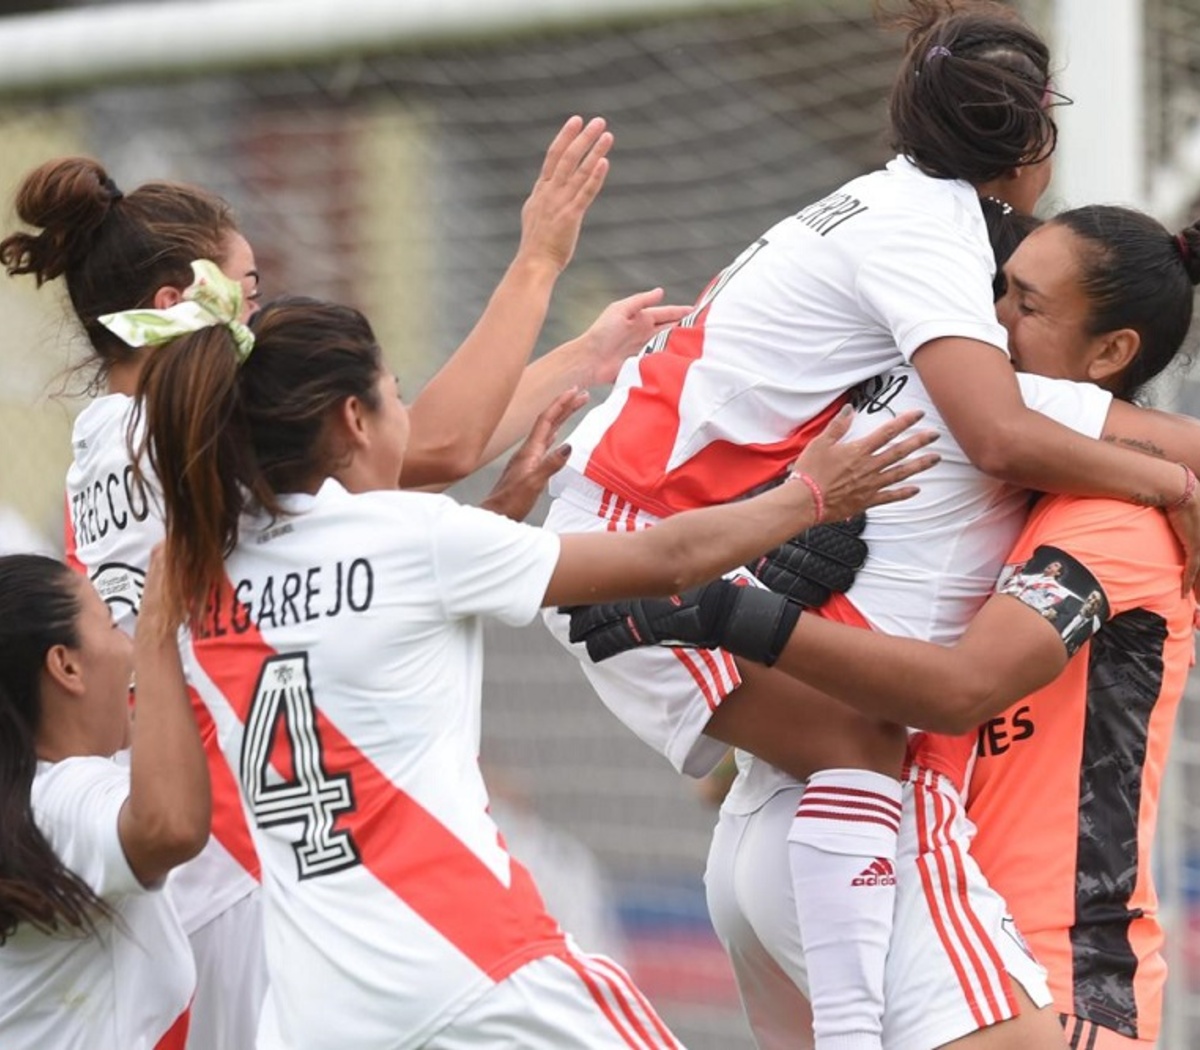
<path fill-rule="evenodd" d="M 763 1050 L 811 1038 L 811 1020 L 780 982 L 808 990 L 787 860 L 803 791 L 794 784 L 751 814 L 722 810 L 704 876 L 713 926 Z M 1050 1003 L 1045 971 L 967 853 L 973 834 L 949 781 L 916 770 L 904 785 L 886 1050 L 929 1050 L 1015 1016 L 1009 978 L 1038 1007 Z"/>

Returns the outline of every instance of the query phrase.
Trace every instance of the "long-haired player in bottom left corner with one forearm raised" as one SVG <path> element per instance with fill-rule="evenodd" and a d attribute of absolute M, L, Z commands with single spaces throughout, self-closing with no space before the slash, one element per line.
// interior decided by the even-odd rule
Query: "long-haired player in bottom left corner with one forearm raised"
<path fill-rule="evenodd" d="M 196 971 L 162 881 L 208 838 L 209 784 L 162 584 L 156 556 L 131 641 L 61 562 L 0 558 L 5 1046 L 184 1046 Z"/>

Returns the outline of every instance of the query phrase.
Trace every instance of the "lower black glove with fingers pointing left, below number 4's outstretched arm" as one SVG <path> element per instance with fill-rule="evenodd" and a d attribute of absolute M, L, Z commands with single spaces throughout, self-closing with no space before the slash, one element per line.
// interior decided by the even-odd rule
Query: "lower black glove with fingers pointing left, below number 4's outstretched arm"
<path fill-rule="evenodd" d="M 643 598 L 560 610 L 571 641 L 586 642 L 599 664 L 642 646 L 726 649 L 768 667 L 779 659 L 800 606 L 761 587 L 714 580 L 671 598 Z"/>

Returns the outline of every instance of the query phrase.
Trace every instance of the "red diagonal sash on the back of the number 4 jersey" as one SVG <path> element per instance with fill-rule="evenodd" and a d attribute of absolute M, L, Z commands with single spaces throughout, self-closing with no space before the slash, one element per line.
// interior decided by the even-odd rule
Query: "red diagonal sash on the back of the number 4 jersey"
<path fill-rule="evenodd" d="M 217 607 L 229 608 L 224 581 Z M 248 610 L 242 613 L 248 618 Z M 193 638 L 193 652 L 245 725 L 263 661 L 277 655 L 251 626 L 240 635 Z M 364 866 L 494 980 L 524 962 L 565 953 L 529 874 L 511 863 L 504 886 L 454 833 L 392 784 L 317 707 L 317 733 L 330 775 L 350 778 L 354 810 L 342 814 Z"/>

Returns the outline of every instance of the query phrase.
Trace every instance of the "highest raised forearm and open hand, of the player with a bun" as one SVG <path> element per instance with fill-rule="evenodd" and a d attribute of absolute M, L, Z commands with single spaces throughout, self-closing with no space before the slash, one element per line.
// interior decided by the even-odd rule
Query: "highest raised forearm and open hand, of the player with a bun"
<path fill-rule="evenodd" d="M 481 462 L 533 352 L 554 282 L 608 172 L 612 136 L 600 118 L 572 116 L 546 154 L 521 209 L 521 244 L 484 314 L 409 408 L 400 484 L 450 484 Z M 540 406 L 545 407 L 545 406 Z M 540 408 L 539 407 L 539 408 Z"/>

